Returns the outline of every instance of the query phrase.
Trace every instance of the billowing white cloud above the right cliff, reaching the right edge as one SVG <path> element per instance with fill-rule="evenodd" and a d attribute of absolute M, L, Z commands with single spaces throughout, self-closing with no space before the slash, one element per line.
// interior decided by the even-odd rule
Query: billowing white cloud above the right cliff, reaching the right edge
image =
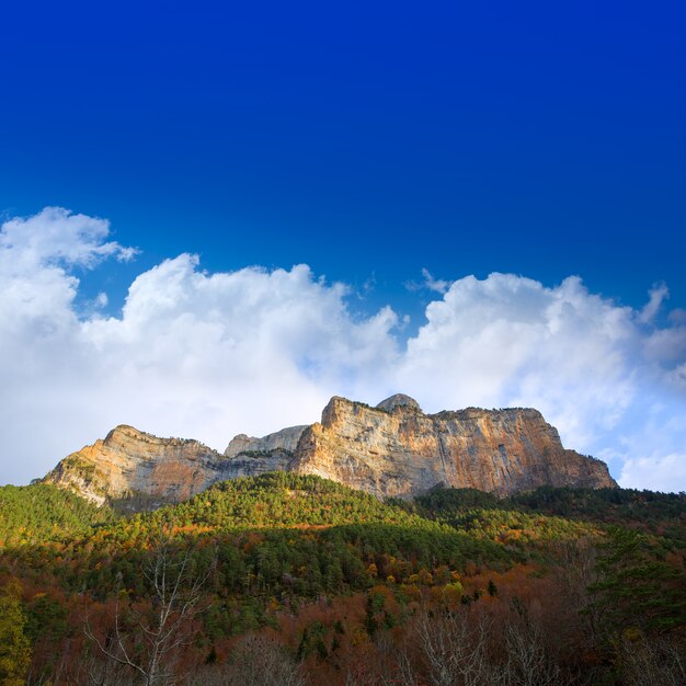
<path fill-rule="evenodd" d="M 622 483 L 684 489 L 686 330 L 649 327 L 655 301 L 652 291 L 648 318 L 576 276 L 556 287 L 468 276 L 426 308 L 399 385 L 431 409 L 538 408 L 568 446 L 606 459 Z"/>

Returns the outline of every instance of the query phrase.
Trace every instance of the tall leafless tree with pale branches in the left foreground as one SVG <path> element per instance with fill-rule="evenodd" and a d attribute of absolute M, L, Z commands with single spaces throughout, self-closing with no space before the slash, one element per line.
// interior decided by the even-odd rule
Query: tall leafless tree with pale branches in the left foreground
<path fill-rule="evenodd" d="M 182 676 L 176 673 L 180 649 L 192 640 L 193 618 L 199 610 L 203 587 L 211 565 L 198 573 L 192 564 L 193 549 L 175 551 L 171 529 L 155 541 L 152 554 L 141 568 L 151 591 L 151 611 L 127 603 L 122 606 L 119 575 L 113 636 L 104 640 L 92 630 L 88 615 L 85 634 L 111 664 L 127 667 L 144 686 L 172 686 Z M 126 625 L 124 619 L 126 615 Z M 133 629 L 132 629 L 133 627 Z M 91 683 L 104 686 L 106 674 L 92 673 Z"/>

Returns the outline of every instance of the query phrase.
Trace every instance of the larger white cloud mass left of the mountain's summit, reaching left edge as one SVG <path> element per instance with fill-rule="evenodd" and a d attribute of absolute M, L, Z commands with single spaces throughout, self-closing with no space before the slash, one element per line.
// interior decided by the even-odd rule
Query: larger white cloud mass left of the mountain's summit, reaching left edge
<path fill-rule="evenodd" d="M 0 481 L 41 476 L 118 423 L 224 449 L 316 421 L 398 354 L 392 310 L 353 318 L 346 287 L 305 265 L 206 274 L 182 254 L 135 279 L 122 317 L 78 317 L 69 268 L 124 251 L 106 222 L 46 209 L 0 236 L 14 265 L 0 270 Z"/>

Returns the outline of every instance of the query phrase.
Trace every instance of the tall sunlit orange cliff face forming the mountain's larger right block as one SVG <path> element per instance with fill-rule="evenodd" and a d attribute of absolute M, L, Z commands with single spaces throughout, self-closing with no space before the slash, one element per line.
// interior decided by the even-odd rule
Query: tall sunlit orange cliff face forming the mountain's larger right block
<path fill-rule="evenodd" d="M 537 410 L 427 415 L 393 398 L 377 408 L 333 398 L 321 423 L 302 434 L 291 469 L 379 496 L 413 496 L 438 484 L 499 495 L 546 484 L 617 485 L 604 462 L 565 450 Z"/>

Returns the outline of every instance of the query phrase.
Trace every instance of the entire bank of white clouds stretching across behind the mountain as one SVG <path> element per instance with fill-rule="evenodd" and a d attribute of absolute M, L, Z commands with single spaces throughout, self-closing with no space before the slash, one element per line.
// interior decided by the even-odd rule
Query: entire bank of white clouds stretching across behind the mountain
<path fill-rule="evenodd" d="M 130 284 L 121 317 L 100 313 L 106 294 L 79 311 L 75 270 L 135 255 L 108 233 L 54 207 L 0 229 L 2 483 L 119 423 L 222 450 L 236 433 L 317 421 L 332 395 L 405 392 L 431 412 L 536 407 L 622 485 L 686 489 L 686 317 L 664 316 L 664 285 L 636 310 L 576 276 L 426 272 L 436 299 L 405 340 L 390 306 L 354 311 L 346 285 L 307 265 L 208 274 L 181 254 Z"/>

